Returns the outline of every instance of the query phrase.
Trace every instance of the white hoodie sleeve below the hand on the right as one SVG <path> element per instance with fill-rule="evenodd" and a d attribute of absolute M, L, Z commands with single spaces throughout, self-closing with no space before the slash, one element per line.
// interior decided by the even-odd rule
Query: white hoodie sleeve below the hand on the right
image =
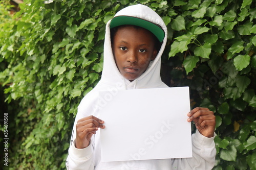
<path fill-rule="evenodd" d="M 214 137 L 203 136 L 198 130 L 192 135 L 192 158 L 174 159 L 173 169 L 205 169 L 210 170 L 215 165 L 215 142 Z"/>

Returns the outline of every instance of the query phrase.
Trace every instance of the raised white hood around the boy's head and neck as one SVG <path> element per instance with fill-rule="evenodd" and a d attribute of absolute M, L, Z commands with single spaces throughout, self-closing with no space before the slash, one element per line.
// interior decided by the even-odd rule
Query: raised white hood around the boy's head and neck
<path fill-rule="evenodd" d="M 164 47 L 167 39 L 167 29 L 162 20 L 162 18 L 151 8 L 138 4 L 126 7 L 119 12 L 116 13 L 117 16 L 131 16 L 140 18 L 143 20 L 147 20 L 149 22 L 154 23 L 157 26 L 160 26 L 164 31 L 164 38 L 162 41 L 161 48 L 156 56 L 155 60 L 153 60 L 146 71 L 133 82 L 125 79 L 119 72 L 111 47 L 111 35 L 110 35 L 110 21 L 106 23 L 106 31 L 105 31 L 105 41 L 104 41 L 104 62 L 103 62 L 103 70 L 102 77 L 99 81 L 99 84 L 105 84 L 108 86 L 116 86 L 117 84 L 122 84 L 122 89 L 135 89 L 135 88 L 158 88 L 163 86 L 163 82 L 160 78 L 160 67 L 161 67 L 161 56 L 164 51 Z M 166 85 L 164 85 L 166 86 Z"/>

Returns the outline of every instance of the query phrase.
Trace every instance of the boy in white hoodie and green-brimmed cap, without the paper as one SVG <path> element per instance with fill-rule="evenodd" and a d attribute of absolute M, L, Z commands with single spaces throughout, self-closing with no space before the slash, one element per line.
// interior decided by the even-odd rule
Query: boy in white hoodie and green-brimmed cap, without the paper
<path fill-rule="evenodd" d="M 78 106 L 66 162 L 68 169 L 211 169 L 214 166 L 216 123 L 214 113 L 207 108 L 195 108 L 187 114 L 187 121 L 194 121 L 197 127 L 192 136 L 193 158 L 140 160 L 133 165 L 129 161 L 101 162 L 98 129 L 105 126 L 98 118 L 98 91 L 167 87 L 160 78 L 166 39 L 167 29 L 161 17 L 143 5 L 122 9 L 106 24 L 102 78 Z"/>

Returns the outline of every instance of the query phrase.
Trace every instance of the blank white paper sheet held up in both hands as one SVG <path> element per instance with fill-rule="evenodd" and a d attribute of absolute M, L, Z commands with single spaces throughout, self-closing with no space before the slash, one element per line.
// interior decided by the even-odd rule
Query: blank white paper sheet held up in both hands
<path fill-rule="evenodd" d="M 102 91 L 103 162 L 192 157 L 189 88 Z"/>

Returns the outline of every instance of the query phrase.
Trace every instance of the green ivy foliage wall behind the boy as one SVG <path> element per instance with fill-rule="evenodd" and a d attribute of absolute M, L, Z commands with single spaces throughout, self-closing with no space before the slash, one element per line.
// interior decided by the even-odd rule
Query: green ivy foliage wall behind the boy
<path fill-rule="evenodd" d="M 14 15 L 2 1 L 9 169 L 65 169 L 77 106 L 100 79 L 105 23 L 138 3 L 168 28 L 163 81 L 189 86 L 191 107 L 216 114 L 214 169 L 256 169 L 255 0 L 25 0 Z M 4 130 L 1 122 L 1 136 Z"/>

